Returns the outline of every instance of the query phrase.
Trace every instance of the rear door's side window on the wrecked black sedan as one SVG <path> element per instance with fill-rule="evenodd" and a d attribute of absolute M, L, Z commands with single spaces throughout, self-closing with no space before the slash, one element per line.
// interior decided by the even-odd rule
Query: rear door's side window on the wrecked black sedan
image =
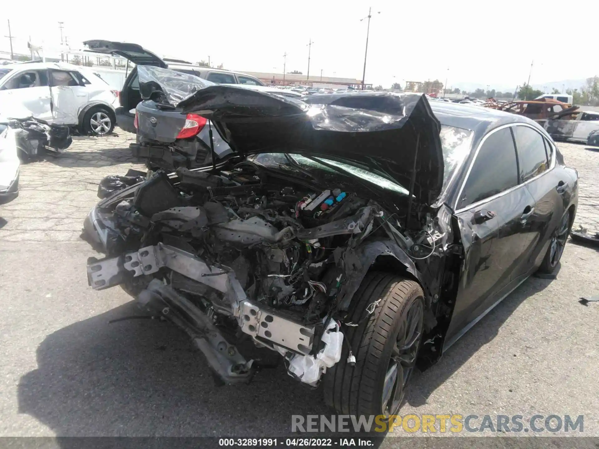
<path fill-rule="evenodd" d="M 518 149 L 520 180 L 524 183 L 547 169 L 544 139 L 528 126 L 514 126 L 512 129 Z"/>

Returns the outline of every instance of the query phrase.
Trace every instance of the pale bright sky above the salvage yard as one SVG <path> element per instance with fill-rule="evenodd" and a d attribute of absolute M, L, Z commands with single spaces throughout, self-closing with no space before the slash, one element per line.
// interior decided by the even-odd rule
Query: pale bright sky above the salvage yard
<path fill-rule="evenodd" d="M 599 1 L 504 0 L 485 2 L 373 1 L 367 83 L 438 78 L 515 86 L 599 74 Z M 241 71 L 283 70 L 362 78 L 368 3 L 353 1 L 248 2 L 85 0 L 5 1 L 0 50 L 8 50 L 6 19 L 14 51 L 26 41 L 60 43 L 58 21 L 71 48 L 87 39 L 128 41 L 160 56 Z M 380 14 L 377 12 L 380 11 Z M 589 18 L 588 26 L 583 25 Z M 449 71 L 447 70 L 449 68 Z"/>

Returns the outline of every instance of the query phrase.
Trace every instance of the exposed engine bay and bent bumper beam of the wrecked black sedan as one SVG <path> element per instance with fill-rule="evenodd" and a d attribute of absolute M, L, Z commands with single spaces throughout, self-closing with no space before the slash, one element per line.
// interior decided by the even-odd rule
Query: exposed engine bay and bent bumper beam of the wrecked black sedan
<path fill-rule="evenodd" d="M 316 385 L 340 362 L 343 311 L 368 269 L 362 242 L 395 256 L 392 243 L 420 260 L 444 240 L 429 216 L 425 230 L 400 231 L 398 213 L 372 199 L 336 186 L 310 190 L 252 162 L 176 174 L 156 172 L 134 194 L 92 210 L 84 233 L 102 236 L 96 244 L 109 257 L 89 260 L 88 279 L 96 290 L 123 284 L 186 330 L 225 383 L 252 375 L 252 360 L 223 336 L 240 329 Z"/>

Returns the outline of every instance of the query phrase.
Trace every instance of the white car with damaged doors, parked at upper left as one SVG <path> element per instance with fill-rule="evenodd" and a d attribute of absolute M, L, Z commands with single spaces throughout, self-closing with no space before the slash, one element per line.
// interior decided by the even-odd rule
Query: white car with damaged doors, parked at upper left
<path fill-rule="evenodd" d="M 88 67 L 62 62 L 0 66 L 0 120 L 25 108 L 36 119 L 77 126 L 84 134 L 108 134 L 118 92 Z"/>

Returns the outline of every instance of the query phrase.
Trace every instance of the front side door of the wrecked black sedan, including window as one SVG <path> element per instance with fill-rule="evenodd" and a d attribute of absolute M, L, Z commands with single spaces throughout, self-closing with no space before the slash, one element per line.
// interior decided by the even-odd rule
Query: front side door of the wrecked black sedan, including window
<path fill-rule="evenodd" d="M 464 263 L 446 347 L 510 288 L 523 262 L 522 222 L 533 208 L 532 196 L 518 181 L 512 131 L 491 131 L 479 144 L 456 204 Z"/>

